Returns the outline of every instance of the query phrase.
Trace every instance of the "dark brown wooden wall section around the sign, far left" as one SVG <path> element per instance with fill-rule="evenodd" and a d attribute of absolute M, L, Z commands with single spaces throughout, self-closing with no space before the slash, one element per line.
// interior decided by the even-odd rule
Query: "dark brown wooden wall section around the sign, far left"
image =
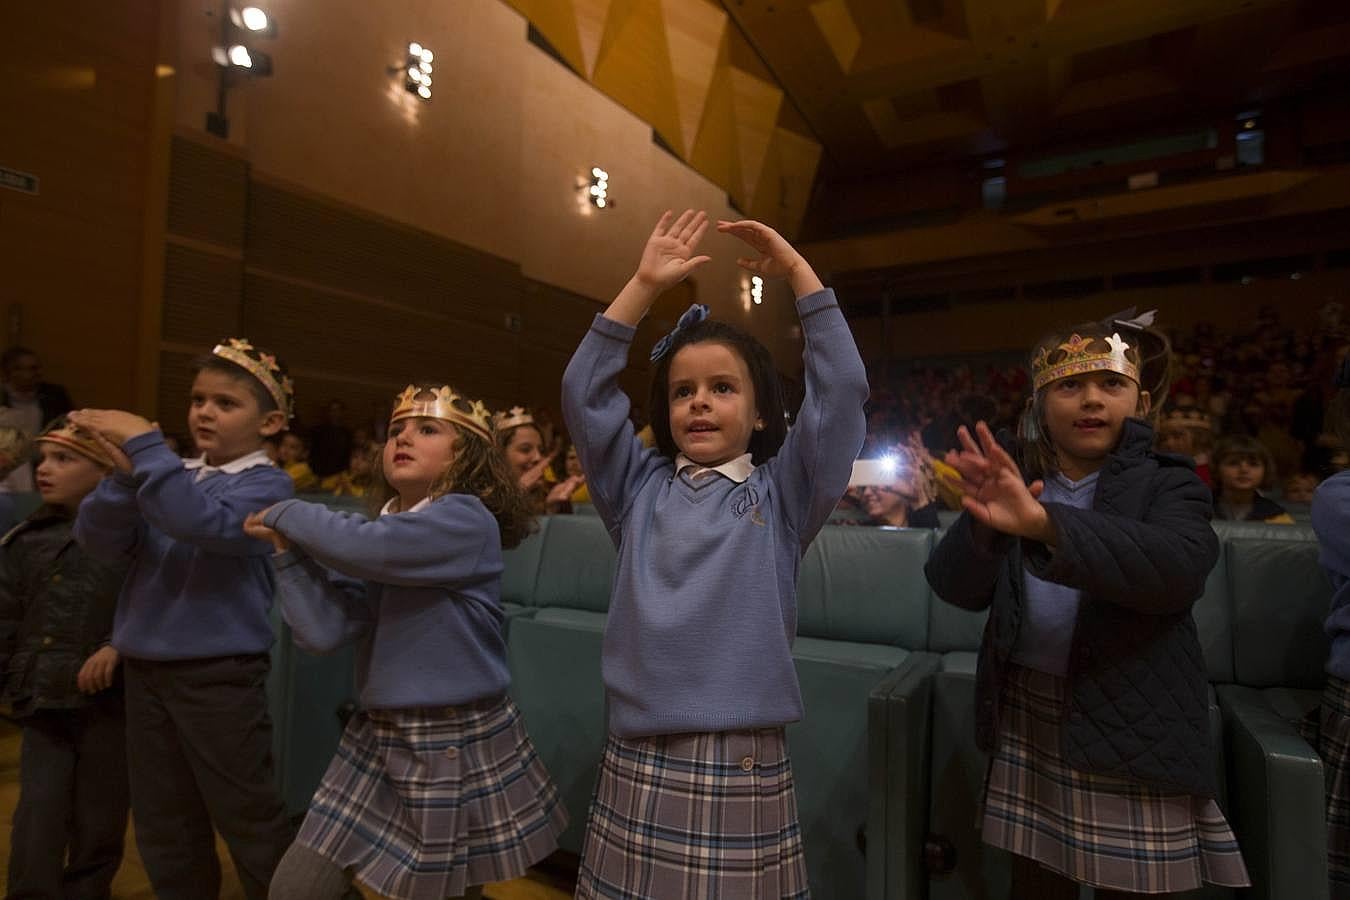
<path fill-rule="evenodd" d="M 40 179 L 0 190 L 0 344 L 36 349 L 81 405 L 135 397 L 161 13 L 20 3 L 0 27 L 0 166 Z"/>

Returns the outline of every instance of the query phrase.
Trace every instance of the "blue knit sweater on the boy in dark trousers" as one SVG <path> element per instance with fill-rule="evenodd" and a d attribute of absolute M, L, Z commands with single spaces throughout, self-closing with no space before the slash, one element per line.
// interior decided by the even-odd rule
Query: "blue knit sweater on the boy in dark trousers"
<path fill-rule="evenodd" d="M 294 494 L 273 466 L 196 472 L 159 432 L 123 449 L 131 475 L 103 479 L 80 505 L 76 540 L 96 559 L 131 560 L 112 622 L 112 645 L 140 660 L 266 653 L 271 646 L 271 546 L 247 537 L 244 518 Z"/>

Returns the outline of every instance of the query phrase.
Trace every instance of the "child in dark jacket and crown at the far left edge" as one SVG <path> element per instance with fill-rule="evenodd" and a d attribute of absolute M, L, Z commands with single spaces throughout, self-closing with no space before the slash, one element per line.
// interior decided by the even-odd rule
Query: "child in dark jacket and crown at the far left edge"
<path fill-rule="evenodd" d="M 109 644 L 127 567 L 92 559 L 72 530 L 112 459 L 65 418 L 36 447 L 42 506 L 0 541 L 0 702 L 23 727 L 7 896 L 107 897 L 130 801 Z"/>

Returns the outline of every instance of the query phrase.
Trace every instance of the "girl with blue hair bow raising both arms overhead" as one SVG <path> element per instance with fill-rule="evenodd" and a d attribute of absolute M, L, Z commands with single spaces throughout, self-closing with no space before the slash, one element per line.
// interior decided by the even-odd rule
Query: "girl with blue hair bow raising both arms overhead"
<path fill-rule="evenodd" d="M 834 293 L 782 236 L 720 223 L 786 278 L 806 340 L 788 430 L 768 349 L 691 306 L 652 351 L 656 448 L 618 387 L 637 322 L 707 262 L 703 213 L 666 213 L 563 375 L 563 412 L 618 568 L 601 668 L 609 739 L 576 897 L 809 896 L 784 727 L 802 553 L 863 447 L 867 374 Z M 652 835 L 659 835 L 653 850 Z"/>

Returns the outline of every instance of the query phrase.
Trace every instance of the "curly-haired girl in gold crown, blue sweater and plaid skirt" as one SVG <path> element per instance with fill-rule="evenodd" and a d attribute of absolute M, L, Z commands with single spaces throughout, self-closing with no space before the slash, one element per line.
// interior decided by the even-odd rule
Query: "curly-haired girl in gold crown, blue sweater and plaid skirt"
<path fill-rule="evenodd" d="M 244 526 L 277 551 L 296 642 L 356 644 L 360 695 L 273 897 L 338 899 L 352 877 L 405 900 L 481 896 L 552 853 L 567 822 L 506 694 L 502 548 L 533 515 L 487 410 L 409 385 L 382 476 L 373 519 L 286 501 Z"/>

